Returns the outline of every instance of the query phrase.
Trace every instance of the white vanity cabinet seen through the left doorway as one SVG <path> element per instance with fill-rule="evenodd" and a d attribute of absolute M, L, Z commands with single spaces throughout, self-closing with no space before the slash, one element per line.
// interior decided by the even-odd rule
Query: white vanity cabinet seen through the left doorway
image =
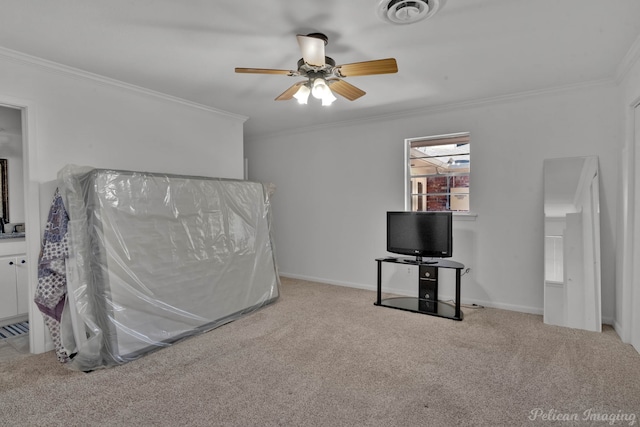
<path fill-rule="evenodd" d="M 0 322 L 29 313 L 27 265 L 25 254 L 0 255 Z"/>

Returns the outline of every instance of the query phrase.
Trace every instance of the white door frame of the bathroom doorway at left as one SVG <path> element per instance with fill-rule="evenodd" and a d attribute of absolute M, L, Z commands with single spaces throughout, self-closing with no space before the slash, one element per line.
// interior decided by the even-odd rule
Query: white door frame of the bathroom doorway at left
<path fill-rule="evenodd" d="M 25 191 L 25 224 L 29 279 L 29 344 L 31 353 L 47 351 L 44 319 L 33 303 L 38 283 L 40 254 L 40 179 L 37 170 L 36 107 L 30 100 L 0 94 L 0 106 L 22 111 L 22 165 Z"/>

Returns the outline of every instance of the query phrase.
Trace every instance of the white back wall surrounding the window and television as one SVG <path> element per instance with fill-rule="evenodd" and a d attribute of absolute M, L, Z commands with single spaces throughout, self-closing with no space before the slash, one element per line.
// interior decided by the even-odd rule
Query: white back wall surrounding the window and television
<path fill-rule="evenodd" d="M 614 230 L 621 119 L 614 85 L 460 105 L 245 141 L 249 178 L 271 181 L 283 275 L 374 289 L 385 212 L 403 209 L 403 141 L 471 133 L 471 210 L 453 259 L 471 268 L 463 302 L 542 313 L 545 158 L 597 155 L 603 318 L 614 315 Z M 303 108 L 303 107 L 301 107 Z M 385 290 L 413 294 L 415 275 Z M 406 281 L 407 283 L 400 283 Z"/>

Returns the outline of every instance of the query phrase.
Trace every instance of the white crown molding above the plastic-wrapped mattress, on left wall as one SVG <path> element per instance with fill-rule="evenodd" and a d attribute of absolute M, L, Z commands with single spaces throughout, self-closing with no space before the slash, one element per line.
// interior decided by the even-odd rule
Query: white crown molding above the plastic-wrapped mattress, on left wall
<path fill-rule="evenodd" d="M 70 67 L 67 65 L 63 65 L 57 62 L 49 61 L 47 59 L 42 59 L 36 56 L 28 55 L 26 53 L 18 52 L 15 50 L 7 49 L 4 47 L 0 47 L 0 57 L 4 57 L 8 60 L 12 60 L 14 62 L 34 65 L 40 68 L 43 68 L 47 71 L 56 72 L 59 74 L 63 74 L 66 76 L 81 78 L 84 80 L 90 80 L 92 82 L 116 87 L 119 89 L 124 89 L 126 91 L 135 92 L 141 95 L 149 96 L 151 98 L 160 99 L 163 101 L 168 101 L 174 104 L 181 104 L 186 107 L 195 108 L 198 110 L 204 110 L 209 113 L 214 113 L 220 116 L 224 116 L 230 119 L 239 120 L 241 122 L 247 121 L 249 117 L 243 116 L 240 114 L 230 113 L 228 111 L 219 110 L 217 108 L 209 107 L 204 104 L 198 104 L 197 102 L 188 101 L 183 98 L 179 98 L 177 96 L 168 95 L 162 92 L 157 92 L 151 89 L 144 88 L 142 86 L 136 86 L 129 83 L 122 82 L 120 80 L 112 79 L 109 77 L 101 76 L 99 74 L 91 73 L 89 71 L 81 70 L 79 68 Z"/>

